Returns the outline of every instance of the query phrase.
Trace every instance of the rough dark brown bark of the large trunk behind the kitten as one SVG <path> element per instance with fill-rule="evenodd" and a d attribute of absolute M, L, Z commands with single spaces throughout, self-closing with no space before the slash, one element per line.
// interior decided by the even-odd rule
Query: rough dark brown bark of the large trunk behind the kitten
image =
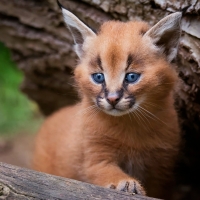
<path fill-rule="evenodd" d="M 185 139 L 177 185 L 184 185 L 179 189 L 185 199 L 192 199 L 193 194 L 200 198 L 200 1 L 60 1 L 93 28 L 109 19 L 145 20 L 153 25 L 169 13 L 189 6 L 182 19 L 177 59 L 182 83 L 176 105 Z M 78 99 L 70 78 L 77 58 L 55 0 L 0 0 L 0 41 L 12 50 L 24 72 L 22 91 L 38 103 L 44 114 Z M 180 195 L 177 198 L 183 199 Z"/>

